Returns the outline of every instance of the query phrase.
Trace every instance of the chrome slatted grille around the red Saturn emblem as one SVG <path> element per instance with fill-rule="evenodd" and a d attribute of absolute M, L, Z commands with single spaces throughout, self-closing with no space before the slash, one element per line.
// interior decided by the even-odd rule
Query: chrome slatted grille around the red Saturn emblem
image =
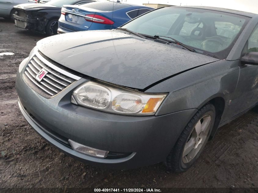
<path fill-rule="evenodd" d="M 39 82 L 35 77 L 42 69 L 44 69 L 47 74 Z M 24 75 L 28 78 L 27 81 L 25 80 L 27 83 L 31 81 L 29 84 L 31 88 L 35 91 L 39 89 L 40 94 L 42 94 L 43 91 L 45 94 L 42 95 L 46 98 L 57 95 L 74 81 L 81 78 L 50 63 L 49 60 L 45 59 L 39 52 L 37 52 L 27 64 Z"/>

